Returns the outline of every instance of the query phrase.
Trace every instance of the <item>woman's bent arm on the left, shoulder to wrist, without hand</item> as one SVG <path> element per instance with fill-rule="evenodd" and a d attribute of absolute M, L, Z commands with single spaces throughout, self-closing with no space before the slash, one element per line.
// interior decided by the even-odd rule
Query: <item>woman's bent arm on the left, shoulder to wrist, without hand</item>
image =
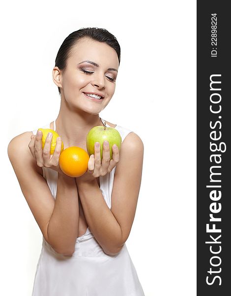
<path fill-rule="evenodd" d="M 41 175 L 28 144 L 30 132 L 11 140 L 8 156 L 29 208 L 53 249 L 70 256 L 74 252 L 79 228 L 79 201 L 75 178 L 58 174 L 56 200 Z"/>

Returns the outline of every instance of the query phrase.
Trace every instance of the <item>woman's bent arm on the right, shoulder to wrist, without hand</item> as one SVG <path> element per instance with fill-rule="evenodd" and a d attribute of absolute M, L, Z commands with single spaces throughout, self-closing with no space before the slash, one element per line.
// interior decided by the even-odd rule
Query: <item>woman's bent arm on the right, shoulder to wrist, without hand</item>
<path fill-rule="evenodd" d="M 131 231 L 141 185 L 143 156 L 144 145 L 140 137 L 133 132 L 128 134 L 121 145 L 115 169 L 111 210 L 96 179 L 76 178 L 87 224 L 108 255 L 121 250 Z"/>

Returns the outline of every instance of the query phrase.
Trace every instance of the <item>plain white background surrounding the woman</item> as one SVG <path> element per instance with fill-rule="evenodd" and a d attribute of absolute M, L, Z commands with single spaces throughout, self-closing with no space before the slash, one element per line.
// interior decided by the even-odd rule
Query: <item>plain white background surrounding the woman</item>
<path fill-rule="evenodd" d="M 2 4 L 1 4 L 2 5 Z M 56 119 L 52 69 L 83 27 L 117 37 L 115 95 L 100 113 L 144 143 L 126 242 L 145 296 L 196 295 L 196 1 L 8 1 L 0 7 L 0 295 L 30 296 L 42 234 L 7 156 L 9 141 Z M 1 273 L 2 274 L 2 273 Z"/>

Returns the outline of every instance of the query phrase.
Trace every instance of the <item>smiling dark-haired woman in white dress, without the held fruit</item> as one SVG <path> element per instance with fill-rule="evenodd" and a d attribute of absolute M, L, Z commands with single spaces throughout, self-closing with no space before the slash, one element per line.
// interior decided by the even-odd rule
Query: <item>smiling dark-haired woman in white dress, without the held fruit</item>
<path fill-rule="evenodd" d="M 120 62 L 116 38 L 105 29 L 84 28 L 62 43 L 53 69 L 61 96 L 55 121 L 43 126 L 60 136 L 50 155 L 42 134 L 25 132 L 8 145 L 8 155 L 43 244 L 33 296 L 143 296 L 125 242 L 134 220 L 141 185 L 144 146 L 137 134 L 99 117 L 115 92 Z M 90 155 L 78 178 L 59 168 L 64 148 L 86 148 L 88 131 L 97 125 L 117 129 L 120 150 L 108 143 Z M 39 128 L 39 127 L 38 127 Z"/>

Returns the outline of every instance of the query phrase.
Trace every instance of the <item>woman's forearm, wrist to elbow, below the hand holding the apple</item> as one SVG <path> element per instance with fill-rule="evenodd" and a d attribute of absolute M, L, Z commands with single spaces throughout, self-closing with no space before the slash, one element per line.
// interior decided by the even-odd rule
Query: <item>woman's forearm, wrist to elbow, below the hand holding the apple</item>
<path fill-rule="evenodd" d="M 96 179 L 93 182 L 81 182 L 76 178 L 76 184 L 91 232 L 106 254 L 117 254 L 122 247 L 121 228 L 107 206 Z"/>

